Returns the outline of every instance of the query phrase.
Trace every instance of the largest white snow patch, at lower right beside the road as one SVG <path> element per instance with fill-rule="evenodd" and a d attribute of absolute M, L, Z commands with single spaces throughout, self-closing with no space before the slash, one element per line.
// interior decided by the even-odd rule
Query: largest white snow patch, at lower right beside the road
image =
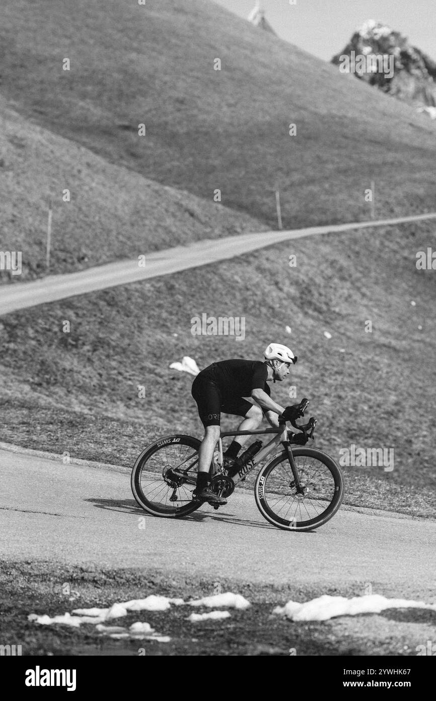
<path fill-rule="evenodd" d="M 363 597 L 330 597 L 325 594 L 318 599 L 299 604 L 288 601 L 281 607 L 276 606 L 272 613 L 284 615 L 293 621 L 300 620 L 329 620 L 339 615 L 358 615 L 358 613 L 380 613 L 386 608 L 429 608 L 436 611 L 436 604 L 425 604 L 423 601 L 408 601 L 407 599 L 386 599 L 379 594 L 367 594 Z"/>

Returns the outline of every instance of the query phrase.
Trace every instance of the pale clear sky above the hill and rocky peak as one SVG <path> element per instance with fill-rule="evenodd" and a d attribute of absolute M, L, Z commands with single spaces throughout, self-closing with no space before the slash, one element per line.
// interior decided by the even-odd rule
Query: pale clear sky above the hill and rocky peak
<path fill-rule="evenodd" d="M 211 0 L 212 1 L 212 0 Z M 213 0 L 247 18 L 255 0 Z M 436 61 L 436 0 L 262 0 L 265 17 L 281 39 L 330 61 L 356 27 L 379 20 L 409 37 Z"/>

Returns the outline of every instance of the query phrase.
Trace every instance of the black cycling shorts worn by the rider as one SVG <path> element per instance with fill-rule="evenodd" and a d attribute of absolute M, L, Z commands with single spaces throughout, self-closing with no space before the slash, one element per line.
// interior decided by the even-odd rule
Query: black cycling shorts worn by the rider
<path fill-rule="evenodd" d="M 246 416 L 247 411 L 253 407 L 242 397 L 223 402 L 220 388 L 208 377 L 197 375 L 192 383 L 192 397 L 197 402 L 198 414 L 204 428 L 206 426 L 220 426 L 221 414 L 235 414 Z"/>

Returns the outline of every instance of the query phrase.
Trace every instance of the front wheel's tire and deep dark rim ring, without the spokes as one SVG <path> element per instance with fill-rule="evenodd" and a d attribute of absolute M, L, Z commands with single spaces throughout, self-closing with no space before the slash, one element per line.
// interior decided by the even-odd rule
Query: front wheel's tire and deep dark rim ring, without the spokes
<path fill-rule="evenodd" d="M 293 456 L 294 458 L 314 458 L 314 460 L 322 463 L 329 470 L 333 477 L 335 490 L 328 508 L 326 508 L 325 511 L 323 511 L 318 517 L 315 517 L 314 519 L 307 519 L 306 521 L 297 521 L 297 519 L 283 519 L 275 514 L 272 508 L 269 508 L 267 498 L 265 498 L 265 486 L 267 485 L 268 477 L 272 475 L 274 468 L 280 465 L 283 461 L 288 464 L 288 469 L 290 470 L 286 451 L 281 452 L 281 454 L 278 456 L 274 456 L 274 458 L 266 463 L 262 470 L 260 470 L 255 481 L 255 502 L 262 516 L 277 528 L 285 531 L 312 531 L 313 529 L 327 523 L 335 515 L 342 504 L 342 499 L 344 498 L 345 494 L 344 475 L 342 474 L 342 470 L 339 468 L 339 465 L 337 465 L 337 463 L 335 463 L 330 456 L 323 453 L 321 450 L 314 448 L 296 448 L 293 449 Z"/>

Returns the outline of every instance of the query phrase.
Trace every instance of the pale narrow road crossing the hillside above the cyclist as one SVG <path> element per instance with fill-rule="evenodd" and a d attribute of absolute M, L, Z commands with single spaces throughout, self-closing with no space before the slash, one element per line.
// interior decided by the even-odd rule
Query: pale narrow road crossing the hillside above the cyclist
<path fill-rule="evenodd" d="M 262 231 L 262 233 L 246 233 L 241 234 L 241 236 L 227 236 L 214 240 L 205 239 L 188 246 L 176 246 L 150 253 L 146 256 L 144 267 L 139 267 L 138 259 L 126 260 L 88 268 L 79 273 L 48 275 L 46 278 L 31 283 L 1 285 L 0 316 L 18 309 L 74 297 L 77 294 L 104 290 L 107 287 L 126 285 L 137 280 L 149 280 L 160 275 L 169 275 L 188 268 L 196 268 L 303 236 L 365 229 L 368 226 L 393 226 L 435 218 L 436 213 L 429 213 L 398 219 L 380 219 L 374 222 L 311 226 L 293 231 Z"/>

